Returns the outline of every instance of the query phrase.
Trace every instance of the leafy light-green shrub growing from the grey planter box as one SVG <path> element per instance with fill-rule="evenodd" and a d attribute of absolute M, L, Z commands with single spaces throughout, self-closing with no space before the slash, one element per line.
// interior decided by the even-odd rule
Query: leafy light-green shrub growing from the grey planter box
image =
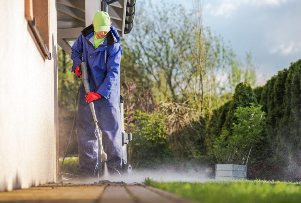
<path fill-rule="evenodd" d="M 252 148 L 254 151 L 266 136 L 265 112 L 261 111 L 261 107 L 254 103 L 237 107 L 234 112 L 236 122 L 231 126 L 232 134 L 225 129 L 214 144 L 213 152 L 218 163 L 246 164 L 250 161 L 248 158 Z M 260 153 L 265 154 L 264 151 Z"/>

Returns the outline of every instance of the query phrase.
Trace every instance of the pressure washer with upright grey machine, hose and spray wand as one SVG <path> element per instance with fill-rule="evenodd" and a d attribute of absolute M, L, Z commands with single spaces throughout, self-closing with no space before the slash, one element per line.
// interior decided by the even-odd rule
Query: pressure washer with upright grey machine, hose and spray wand
<path fill-rule="evenodd" d="M 73 116 L 73 123 L 72 123 L 72 128 L 68 140 L 68 144 L 66 147 L 66 151 L 64 153 L 64 157 L 62 160 L 61 164 L 61 179 L 62 180 L 72 180 L 75 177 L 78 177 L 77 175 L 70 174 L 70 173 L 62 173 L 63 165 L 64 165 L 64 160 L 67 155 L 68 147 L 70 145 L 70 141 L 74 132 L 75 128 L 75 121 L 76 121 L 76 112 L 77 112 L 77 102 L 78 102 L 78 97 L 79 97 L 79 91 L 84 85 L 85 92 L 88 94 L 90 92 L 90 87 L 89 87 L 89 82 L 88 82 L 88 70 L 87 70 L 87 65 L 85 62 L 81 63 L 81 72 L 82 72 L 82 77 L 78 77 L 81 79 L 81 82 L 78 86 L 78 91 L 77 91 L 77 96 L 76 96 L 76 103 L 75 103 L 75 109 L 74 109 L 74 116 Z M 99 162 L 101 161 L 102 167 L 99 167 L 99 175 L 102 176 L 104 174 L 104 163 L 107 161 L 107 154 L 105 153 L 105 148 L 104 148 L 104 138 L 101 135 L 101 130 L 98 127 L 98 121 L 95 115 L 95 109 L 94 109 L 94 103 L 90 102 L 89 103 L 92 117 L 93 117 L 93 122 L 95 124 L 95 133 L 97 133 L 96 137 L 98 138 L 98 144 L 99 144 L 99 150 L 101 150 L 100 157 L 98 158 Z M 120 124 L 121 124 L 121 137 L 122 137 L 122 165 L 121 165 L 121 175 L 123 176 L 132 176 L 133 171 L 132 171 L 132 166 L 131 164 L 127 163 L 127 149 L 126 145 L 129 144 L 130 141 L 132 141 L 132 133 L 126 133 L 124 131 L 124 117 L 123 117 L 123 97 L 120 95 Z"/>

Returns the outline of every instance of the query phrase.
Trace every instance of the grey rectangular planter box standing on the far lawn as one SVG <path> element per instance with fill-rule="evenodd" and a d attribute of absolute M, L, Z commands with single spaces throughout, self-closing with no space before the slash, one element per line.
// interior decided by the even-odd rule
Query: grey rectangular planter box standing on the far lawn
<path fill-rule="evenodd" d="M 216 164 L 216 179 L 246 179 L 247 166 L 235 164 Z"/>

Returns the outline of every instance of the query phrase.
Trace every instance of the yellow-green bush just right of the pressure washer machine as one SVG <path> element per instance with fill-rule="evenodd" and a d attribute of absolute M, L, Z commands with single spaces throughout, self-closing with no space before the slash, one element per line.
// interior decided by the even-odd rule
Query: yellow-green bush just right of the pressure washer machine
<path fill-rule="evenodd" d="M 172 163 L 173 153 L 168 141 L 164 117 L 158 113 L 133 114 L 133 122 L 128 126 L 133 140 L 128 145 L 128 160 L 134 169 L 154 169 L 164 163 Z"/>

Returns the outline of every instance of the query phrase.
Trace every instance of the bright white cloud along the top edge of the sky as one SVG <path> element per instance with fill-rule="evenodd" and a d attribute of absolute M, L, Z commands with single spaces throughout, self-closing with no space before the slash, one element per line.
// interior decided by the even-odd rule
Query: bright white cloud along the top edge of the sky
<path fill-rule="evenodd" d="M 230 17 L 232 12 L 241 5 L 250 6 L 279 6 L 281 4 L 296 0 L 216 0 L 215 3 L 208 3 L 204 6 L 204 11 L 215 17 Z"/>

